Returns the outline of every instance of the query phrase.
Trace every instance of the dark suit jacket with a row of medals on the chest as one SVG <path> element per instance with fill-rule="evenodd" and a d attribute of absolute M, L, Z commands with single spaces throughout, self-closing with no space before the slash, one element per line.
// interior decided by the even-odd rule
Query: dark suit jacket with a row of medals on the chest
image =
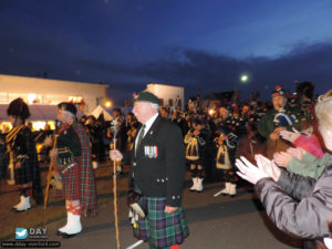
<path fill-rule="evenodd" d="M 143 195 L 166 197 L 166 205 L 178 207 L 185 172 L 181 131 L 172 121 L 158 115 L 137 149 L 134 143 L 131 152 L 129 188 L 136 185 Z"/>

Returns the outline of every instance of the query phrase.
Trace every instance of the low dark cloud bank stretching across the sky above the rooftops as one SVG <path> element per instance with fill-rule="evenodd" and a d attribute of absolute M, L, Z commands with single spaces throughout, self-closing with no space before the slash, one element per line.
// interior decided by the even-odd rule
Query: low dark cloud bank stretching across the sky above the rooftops
<path fill-rule="evenodd" d="M 93 54 L 93 48 L 77 42 L 79 37 L 40 38 L 42 31 L 29 31 L 28 35 L 22 31 L 23 24 L 6 27 L 3 32 L 9 35 L 0 41 L 0 73 L 35 76 L 46 71 L 52 79 L 102 82 L 110 85 L 110 96 L 118 102 L 151 82 L 185 86 L 187 96 L 200 89 L 203 95 L 241 90 L 243 97 L 259 90 L 262 96 L 269 97 L 276 84 L 293 90 L 297 80 L 314 81 L 318 93 L 331 89 L 332 43 L 329 42 L 298 43 L 289 53 L 272 59 L 236 59 L 204 50 L 167 48 L 158 60 L 125 64 L 89 55 Z M 15 29 L 20 31 L 14 32 Z M 239 81 L 243 72 L 250 75 L 246 85 Z"/>

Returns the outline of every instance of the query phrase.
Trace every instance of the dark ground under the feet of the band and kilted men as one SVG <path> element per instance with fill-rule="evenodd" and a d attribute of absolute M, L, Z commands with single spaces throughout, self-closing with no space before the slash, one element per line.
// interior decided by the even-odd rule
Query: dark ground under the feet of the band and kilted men
<path fill-rule="evenodd" d="M 65 224 L 65 210 L 62 198 L 50 197 L 46 210 L 46 235 L 49 241 L 61 241 L 61 248 L 115 249 L 115 226 L 113 212 L 113 186 L 110 163 L 100 165 L 95 170 L 98 193 L 98 215 L 82 217 L 83 231 L 71 239 L 58 237 L 56 230 Z M 128 168 L 126 167 L 127 172 Z M 46 168 L 42 170 L 42 175 Z M 42 177 L 44 179 L 44 177 Z M 44 181 L 44 180 L 43 180 Z M 137 239 L 133 237 L 127 219 L 126 206 L 127 177 L 117 177 L 118 186 L 118 228 L 121 248 L 127 248 Z M 184 207 L 190 230 L 180 248 L 184 249 L 289 249 L 299 248 L 301 242 L 279 231 L 267 218 L 266 212 L 252 191 L 252 186 L 240 181 L 235 198 L 229 196 L 214 197 L 221 189 L 221 183 L 204 183 L 203 193 L 189 191 L 190 174 L 186 174 Z M 44 183 L 43 183 L 44 185 Z M 41 206 L 29 211 L 15 214 L 10 207 L 18 200 L 14 186 L 2 183 L 1 188 L 1 230 L 10 231 L 11 237 L 2 240 L 14 240 L 14 228 L 40 228 L 43 216 Z M 12 231 L 12 232 L 11 232 Z M 3 234 L 3 232 L 2 232 Z M 6 234 L 3 234 L 6 235 Z M 147 243 L 136 247 L 148 248 Z"/>

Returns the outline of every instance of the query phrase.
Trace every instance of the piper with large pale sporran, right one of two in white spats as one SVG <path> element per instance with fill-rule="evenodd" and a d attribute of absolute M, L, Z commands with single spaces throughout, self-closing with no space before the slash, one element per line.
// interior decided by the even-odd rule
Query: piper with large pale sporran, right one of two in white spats
<path fill-rule="evenodd" d="M 217 155 L 216 167 L 225 181 L 225 188 L 220 194 L 235 197 L 238 177 L 235 170 L 235 155 L 237 149 L 237 136 L 226 126 L 218 127 L 218 136 L 215 138 Z"/>

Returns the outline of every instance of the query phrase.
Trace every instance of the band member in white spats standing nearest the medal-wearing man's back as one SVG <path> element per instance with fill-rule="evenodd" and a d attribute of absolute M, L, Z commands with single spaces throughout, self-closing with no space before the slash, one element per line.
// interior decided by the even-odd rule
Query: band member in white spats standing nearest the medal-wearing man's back
<path fill-rule="evenodd" d="M 190 172 L 193 176 L 191 191 L 203 191 L 204 179 L 204 146 L 206 145 L 206 134 L 204 133 L 204 122 L 201 120 L 194 120 L 193 127 L 185 136 L 186 158 L 190 164 Z"/>

